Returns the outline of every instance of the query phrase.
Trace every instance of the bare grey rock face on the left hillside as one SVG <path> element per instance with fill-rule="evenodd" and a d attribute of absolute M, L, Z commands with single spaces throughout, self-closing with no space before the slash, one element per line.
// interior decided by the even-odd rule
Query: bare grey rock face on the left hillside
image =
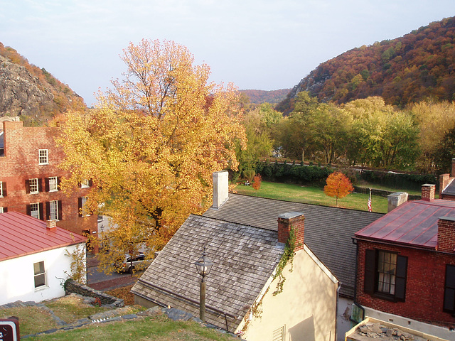
<path fill-rule="evenodd" d="M 37 121 L 53 107 L 52 92 L 26 67 L 0 55 L 0 117 L 19 116 Z"/>

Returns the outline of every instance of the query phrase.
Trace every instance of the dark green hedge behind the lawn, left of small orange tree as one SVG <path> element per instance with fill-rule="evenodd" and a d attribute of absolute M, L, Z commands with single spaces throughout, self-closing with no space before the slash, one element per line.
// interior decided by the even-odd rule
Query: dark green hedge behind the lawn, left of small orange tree
<path fill-rule="evenodd" d="M 325 181 L 333 171 L 330 168 L 318 166 L 299 166 L 286 163 L 260 162 L 256 166 L 256 173 L 264 180 L 294 183 L 317 183 Z"/>

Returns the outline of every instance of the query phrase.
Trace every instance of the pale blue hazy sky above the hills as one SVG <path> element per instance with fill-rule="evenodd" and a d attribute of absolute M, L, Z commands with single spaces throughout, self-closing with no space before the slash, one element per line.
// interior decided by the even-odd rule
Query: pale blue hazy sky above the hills
<path fill-rule="evenodd" d="M 347 50 L 455 16 L 455 0 L 0 0 L 0 43 L 95 104 L 130 42 L 173 40 L 210 80 L 294 87 Z"/>

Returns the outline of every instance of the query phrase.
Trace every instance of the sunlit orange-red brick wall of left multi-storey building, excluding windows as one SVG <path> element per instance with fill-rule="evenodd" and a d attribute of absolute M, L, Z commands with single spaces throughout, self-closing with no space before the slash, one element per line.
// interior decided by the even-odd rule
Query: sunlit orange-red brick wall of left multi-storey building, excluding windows
<path fill-rule="evenodd" d="M 68 177 L 69 173 L 58 168 L 63 161 L 61 148 L 55 145 L 54 138 L 58 128 L 23 127 L 21 121 L 4 121 L 5 154 L 0 157 L 0 181 L 6 183 L 6 196 L 0 197 L 0 207 L 27 214 L 27 205 L 43 203 L 43 220 L 47 220 L 45 202 L 60 200 L 61 220 L 59 227 L 82 234 L 82 231 L 97 232 L 97 216 L 79 217 L 78 197 L 88 195 L 90 188 L 75 188 L 65 195 L 63 191 L 45 191 L 45 178 Z M 48 150 L 48 164 L 40 165 L 38 151 Z M 36 194 L 27 193 L 26 180 L 38 178 L 41 191 Z M 96 234 L 95 234 L 96 235 Z"/>

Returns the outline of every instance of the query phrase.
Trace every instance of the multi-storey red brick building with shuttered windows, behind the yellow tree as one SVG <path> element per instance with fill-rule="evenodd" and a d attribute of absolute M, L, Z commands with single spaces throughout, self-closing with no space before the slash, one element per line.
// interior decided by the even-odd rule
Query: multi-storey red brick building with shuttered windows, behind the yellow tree
<path fill-rule="evenodd" d="M 86 181 L 69 195 L 60 190 L 68 172 L 58 168 L 63 151 L 55 145 L 55 127 L 23 127 L 3 121 L 0 131 L 0 213 L 21 212 L 40 220 L 57 220 L 77 234 L 97 235 L 97 216 L 82 206 L 90 191 Z"/>

